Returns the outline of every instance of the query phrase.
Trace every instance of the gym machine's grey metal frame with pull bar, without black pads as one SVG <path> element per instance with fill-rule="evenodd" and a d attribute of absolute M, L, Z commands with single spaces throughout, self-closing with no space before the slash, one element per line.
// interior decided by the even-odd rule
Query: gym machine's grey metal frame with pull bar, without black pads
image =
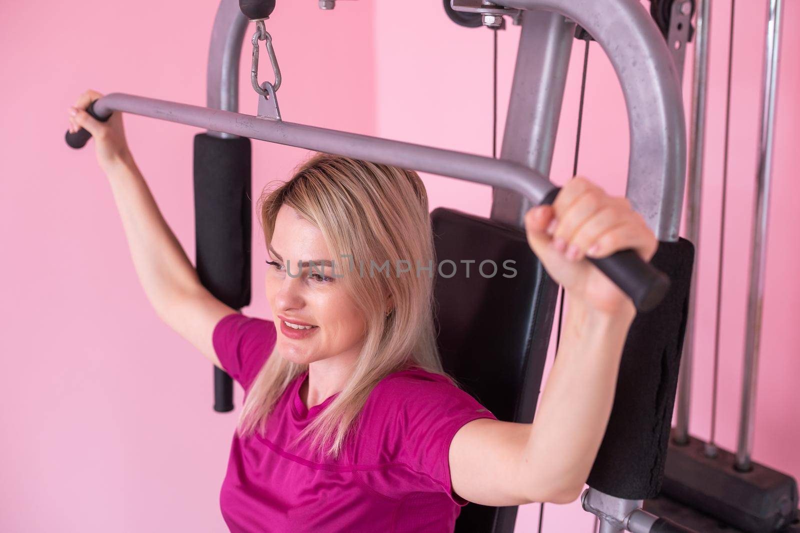
<path fill-rule="evenodd" d="M 491 185 L 491 218 L 522 227 L 530 207 L 550 203 L 558 193 L 546 176 L 577 24 L 602 46 L 622 86 L 630 127 L 626 197 L 659 241 L 678 241 L 686 173 L 680 75 L 646 10 L 637 0 L 496 0 L 494 5 L 514 14 L 522 26 L 499 159 L 282 121 L 268 82 L 258 87 L 267 96 L 259 94 L 257 116 L 238 113 L 238 62 L 249 21 L 236 0 L 222 0 L 214 20 L 207 108 L 110 93 L 90 110 L 101 119 L 113 111 L 134 113 L 205 128 L 214 137 L 249 137 Z M 73 137 L 70 145 L 79 147 L 86 141 L 75 141 L 81 135 L 87 137 L 82 131 L 67 140 Z M 662 272 L 630 250 L 591 261 L 642 311 L 658 304 L 669 285 Z M 603 533 L 688 531 L 642 511 L 638 500 L 589 489 L 583 503 L 601 519 Z"/>

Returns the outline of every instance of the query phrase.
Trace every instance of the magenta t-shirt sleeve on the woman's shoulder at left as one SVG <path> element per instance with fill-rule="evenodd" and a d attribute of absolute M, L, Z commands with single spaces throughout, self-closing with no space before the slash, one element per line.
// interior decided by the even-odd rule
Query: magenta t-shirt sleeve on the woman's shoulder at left
<path fill-rule="evenodd" d="M 222 368 L 248 390 L 275 347 L 278 332 L 272 320 L 234 312 L 214 326 L 212 343 Z"/>

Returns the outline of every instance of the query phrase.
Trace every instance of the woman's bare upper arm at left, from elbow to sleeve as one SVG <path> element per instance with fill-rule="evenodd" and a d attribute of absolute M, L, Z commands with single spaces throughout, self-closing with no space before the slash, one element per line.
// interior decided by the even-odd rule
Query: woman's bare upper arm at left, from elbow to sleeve
<path fill-rule="evenodd" d="M 223 304 L 200 285 L 192 292 L 175 297 L 159 314 L 170 328 L 198 348 L 206 359 L 225 370 L 214 350 L 212 336 L 219 321 L 235 312 L 236 309 Z"/>

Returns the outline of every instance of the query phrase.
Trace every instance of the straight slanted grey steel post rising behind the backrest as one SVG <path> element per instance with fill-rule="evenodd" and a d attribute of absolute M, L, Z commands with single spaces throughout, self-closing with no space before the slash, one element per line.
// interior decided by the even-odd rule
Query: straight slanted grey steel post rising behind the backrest
<path fill-rule="evenodd" d="M 549 11 L 523 11 L 517 64 L 500 157 L 550 175 L 575 23 Z M 522 227 L 530 202 L 492 191 L 491 218 Z"/>

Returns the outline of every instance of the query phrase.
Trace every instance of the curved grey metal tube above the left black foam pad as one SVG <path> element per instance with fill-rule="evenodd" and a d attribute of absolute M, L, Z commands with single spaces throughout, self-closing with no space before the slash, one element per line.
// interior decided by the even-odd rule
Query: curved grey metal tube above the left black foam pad
<path fill-rule="evenodd" d="M 239 58 L 248 24 L 238 0 L 221 0 L 211 29 L 211 46 L 206 72 L 206 105 L 225 111 L 239 110 Z M 235 137 L 209 131 L 214 137 Z"/>

